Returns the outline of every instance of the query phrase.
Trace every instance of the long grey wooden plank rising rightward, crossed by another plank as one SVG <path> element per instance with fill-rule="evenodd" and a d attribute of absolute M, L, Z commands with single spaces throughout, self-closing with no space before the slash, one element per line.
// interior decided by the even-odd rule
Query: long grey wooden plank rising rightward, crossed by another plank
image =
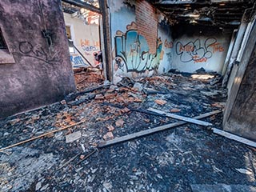
<path fill-rule="evenodd" d="M 221 112 L 222 112 L 221 110 L 214 110 L 214 111 L 206 113 L 206 114 L 198 115 L 198 116 L 194 117 L 194 119 L 206 118 L 206 117 L 209 117 L 209 116 L 214 115 L 214 114 L 219 114 Z M 114 145 L 118 142 L 126 142 L 130 139 L 133 139 L 133 138 L 139 138 L 139 137 L 142 137 L 142 136 L 145 136 L 145 135 L 148 135 L 148 134 L 156 133 L 158 131 L 168 130 L 168 129 L 173 128 L 175 126 L 182 126 L 184 124 L 186 124 L 186 122 L 180 121 L 180 122 L 170 123 L 170 124 L 167 124 L 167 125 L 164 125 L 164 126 L 157 126 L 157 127 L 153 128 L 153 129 L 150 129 L 150 130 L 142 130 L 142 131 L 139 131 L 139 132 L 134 133 L 134 134 L 128 134 L 126 136 L 122 136 L 122 137 L 119 137 L 119 138 L 114 138 L 114 139 L 109 140 L 109 141 L 100 142 L 100 143 L 98 143 L 98 147 L 102 148 L 102 147 Z"/>

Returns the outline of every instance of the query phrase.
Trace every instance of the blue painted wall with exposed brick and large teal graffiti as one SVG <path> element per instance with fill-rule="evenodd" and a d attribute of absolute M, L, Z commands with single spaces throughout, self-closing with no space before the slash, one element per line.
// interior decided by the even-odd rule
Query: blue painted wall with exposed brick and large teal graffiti
<path fill-rule="evenodd" d="M 146 1 L 110 1 L 114 83 L 170 69 L 170 26 Z"/>

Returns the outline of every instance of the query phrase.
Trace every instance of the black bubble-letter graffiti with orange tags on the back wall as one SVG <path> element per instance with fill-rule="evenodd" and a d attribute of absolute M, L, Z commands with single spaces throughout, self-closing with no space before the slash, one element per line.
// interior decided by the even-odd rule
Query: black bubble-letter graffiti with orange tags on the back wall
<path fill-rule="evenodd" d="M 205 41 L 198 38 L 184 45 L 182 42 L 176 43 L 176 54 L 180 55 L 181 62 L 206 62 L 215 53 L 223 51 L 223 46 L 216 38 L 206 38 Z"/>

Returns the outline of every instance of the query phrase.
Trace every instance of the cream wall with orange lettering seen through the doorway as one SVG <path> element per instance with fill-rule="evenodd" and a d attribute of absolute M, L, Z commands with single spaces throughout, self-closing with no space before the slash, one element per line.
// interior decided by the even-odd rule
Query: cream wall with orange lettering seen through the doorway
<path fill-rule="evenodd" d="M 92 65 L 94 65 L 93 53 L 100 50 L 98 17 L 98 14 L 94 15 L 91 11 L 87 20 L 64 13 L 64 20 L 66 26 L 70 26 L 74 46 Z M 73 66 L 87 65 L 86 60 L 78 54 L 77 50 L 74 50 L 74 53 L 70 53 L 70 60 Z"/>

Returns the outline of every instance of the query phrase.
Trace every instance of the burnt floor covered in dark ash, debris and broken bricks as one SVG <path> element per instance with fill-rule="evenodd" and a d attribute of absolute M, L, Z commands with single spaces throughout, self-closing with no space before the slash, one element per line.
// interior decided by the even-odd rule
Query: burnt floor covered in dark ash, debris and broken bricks
<path fill-rule="evenodd" d="M 97 148 L 104 139 L 178 122 L 134 109 L 154 107 L 190 118 L 222 110 L 226 90 L 218 75 L 209 77 L 123 78 L 118 86 L 98 86 L 2 119 L 0 147 L 70 128 L 0 153 L 1 191 L 254 191 L 255 149 L 204 126 L 187 123 Z M 222 114 L 202 120 L 222 126 Z"/>

